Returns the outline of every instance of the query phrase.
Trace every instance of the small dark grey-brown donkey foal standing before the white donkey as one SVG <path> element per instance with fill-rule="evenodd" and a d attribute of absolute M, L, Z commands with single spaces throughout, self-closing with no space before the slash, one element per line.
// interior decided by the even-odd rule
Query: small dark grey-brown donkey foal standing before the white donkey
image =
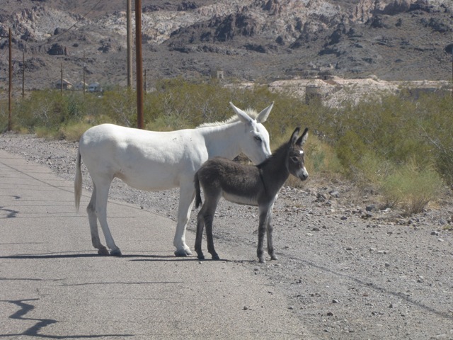
<path fill-rule="evenodd" d="M 253 166 L 243 165 L 222 157 L 213 158 L 201 166 L 195 174 L 196 200 L 198 208 L 202 203 L 200 186 L 205 193 L 205 203 L 197 215 L 197 236 L 195 251 L 198 259 L 205 259 L 201 250 L 203 227 L 206 225 L 207 251 L 212 259 L 218 260 L 212 239 L 212 221 L 220 198 L 234 203 L 258 205 L 260 222 L 258 226 L 258 249 L 256 254 L 260 263 L 265 263 L 263 241 L 265 232 L 268 235 L 268 253 L 270 259 L 276 260 L 272 242 L 272 210 L 277 194 L 289 174 L 305 181 L 309 174 L 304 166 L 302 145 L 308 136 L 308 128 L 299 136 L 300 128 L 292 132 L 289 142 L 281 145 L 277 151 L 264 162 Z"/>

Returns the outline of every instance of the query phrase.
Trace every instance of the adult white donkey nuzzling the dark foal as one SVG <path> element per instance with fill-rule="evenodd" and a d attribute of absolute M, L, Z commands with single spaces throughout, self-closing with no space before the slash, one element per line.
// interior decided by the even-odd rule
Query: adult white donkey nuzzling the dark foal
<path fill-rule="evenodd" d="M 97 220 L 110 254 L 121 255 L 107 223 L 108 191 L 115 177 L 146 191 L 179 186 L 178 224 L 173 245 L 176 256 L 192 254 L 185 243 L 185 227 L 195 198 L 195 172 L 212 157 L 233 159 L 243 152 L 253 163 L 259 164 L 271 155 L 269 134 L 262 123 L 268 119 L 273 103 L 258 114 L 230 104 L 236 116 L 223 123 L 203 124 L 195 129 L 154 132 L 102 124 L 86 130 L 77 152 L 74 194 L 79 211 L 83 159 L 93 180 L 93 193 L 86 211 L 91 241 L 98 254 L 109 253 L 99 239 Z"/>

